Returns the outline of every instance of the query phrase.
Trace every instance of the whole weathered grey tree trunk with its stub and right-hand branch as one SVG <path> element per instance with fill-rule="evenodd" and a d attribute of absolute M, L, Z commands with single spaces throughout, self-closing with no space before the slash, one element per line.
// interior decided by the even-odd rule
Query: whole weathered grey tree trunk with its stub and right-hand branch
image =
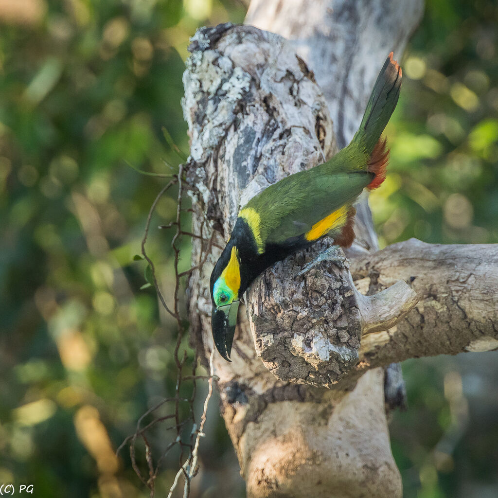
<path fill-rule="evenodd" d="M 246 19 L 257 27 L 225 24 L 192 38 L 187 187 L 193 230 L 213 243 L 193 241 L 196 263 L 210 253 L 188 297 L 204 362 L 214 347 L 209 276 L 239 207 L 349 142 L 385 57 L 400 59 L 421 13 L 418 0 L 257 0 Z M 366 196 L 357 211 L 350 263 L 322 258 L 299 275 L 323 241 L 275 264 L 246 293 L 232 363 L 215 354 L 249 497 L 401 497 L 377 367 L 498 346 L 498 291 L 478 285 L 496 281 L 496 246 L 408 241 L 371 254 Z M 350 267 L 364 293 L 386 290 L 363 295 Z"/>

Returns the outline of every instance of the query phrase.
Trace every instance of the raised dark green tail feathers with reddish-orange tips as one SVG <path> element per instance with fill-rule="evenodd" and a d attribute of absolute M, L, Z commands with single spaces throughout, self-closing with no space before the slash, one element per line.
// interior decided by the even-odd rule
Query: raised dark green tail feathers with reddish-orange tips
<path fill-rule="evenodd" d="M 392 58 L 387 57 L 377 81 L 373 86 L 362 124 L 353 141 L 368 155 L 373 150 L 396 107 L 401 87 L 401 68 Z"/>

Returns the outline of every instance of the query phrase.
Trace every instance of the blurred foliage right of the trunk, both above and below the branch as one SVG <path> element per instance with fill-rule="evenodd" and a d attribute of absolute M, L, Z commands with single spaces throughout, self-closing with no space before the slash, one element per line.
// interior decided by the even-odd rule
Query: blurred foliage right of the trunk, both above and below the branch
<path fill-rule="evenodd" d="M 429 0 L 403 58 L 372 194 L 382 245 L 498 242 L 498 5 Z M 409 410 L 391 444 L 406 498 L 498 496 L 497 353 L 403 364 Z"/>

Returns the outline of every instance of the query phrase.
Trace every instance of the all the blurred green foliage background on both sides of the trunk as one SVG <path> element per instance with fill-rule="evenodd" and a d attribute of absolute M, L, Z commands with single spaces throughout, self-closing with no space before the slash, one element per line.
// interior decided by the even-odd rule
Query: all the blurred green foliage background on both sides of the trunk
<path fill-rule="evenodd" d="M 162 127 L 188 150 L 188 37 L 241 22 L 244 10 L 228 0 L 21 3 L 0 8 L 0 483 L 32 483 L 37 497 L 145 497 L 126 454 L 113 455 L 174 392 L 176 332 L 167 317 L 160 325 L 152 289 L 138 290 L 145 264 L 133 261 L 165 180 L 127 164 L 176 171 Z M 387 130 L 389 175 L 372 195 L 381 244 L 498 242 L 497 46 L 494 1 L 427 1 Z M 172 273 L 171 234 L 154 228 L 175 203 L 165 196 L 152 222 L 161 275 Z M 173 283 L 162 281 L 166 299 Z M 473 355 L 405 363 L 411 409 L 394 417 L 392 448 L 407 498 L 498 496 L 498 392 L 486 383 L 498 368 L 485 357 L 485 371 Z M 243 496 L 216 412 L 212 402 L 193 496 Z M 165 462 L 159 493 L 177 464 Z"/>

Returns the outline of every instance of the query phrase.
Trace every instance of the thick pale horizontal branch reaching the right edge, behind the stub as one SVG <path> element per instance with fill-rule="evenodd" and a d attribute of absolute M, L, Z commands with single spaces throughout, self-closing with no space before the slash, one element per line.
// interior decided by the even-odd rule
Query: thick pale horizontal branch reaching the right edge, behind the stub
<path fill-rule="evenodd" d="M 420 302 L 387 332 L 362 339 L 360 368 L 498 348 L 498 245 L 394 244 L 352 262 L 373 289 L 404 279 Z"/>

